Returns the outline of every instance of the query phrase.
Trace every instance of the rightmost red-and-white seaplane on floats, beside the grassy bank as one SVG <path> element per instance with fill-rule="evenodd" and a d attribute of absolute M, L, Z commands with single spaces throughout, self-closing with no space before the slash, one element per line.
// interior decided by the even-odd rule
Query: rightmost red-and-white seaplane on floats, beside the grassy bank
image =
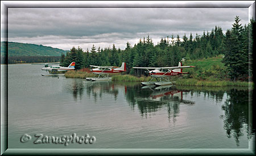
<path fill-rule="evenodd" d="M 142 82 L 142 85 L 172 85 L 170 82 L 169 77 L 173 75 L 179 74 L 189 74 L 182 72 L 184 68 L 195 68 L 195 66 L 182 66 L 181 61 L 179 62 L 178 66 L 171 66 L 171 67 L 162 67 L 162 68 L 155 68 L 155 67 L 133 67 L 134 69 L 147 69 L 146 73 L 149 73 L 152 79 L 148 82 Z M 157 82 L 152 82 L 153 79 L 156 79 Z M 162 81 L 163 79 L 163 81 Z"/>

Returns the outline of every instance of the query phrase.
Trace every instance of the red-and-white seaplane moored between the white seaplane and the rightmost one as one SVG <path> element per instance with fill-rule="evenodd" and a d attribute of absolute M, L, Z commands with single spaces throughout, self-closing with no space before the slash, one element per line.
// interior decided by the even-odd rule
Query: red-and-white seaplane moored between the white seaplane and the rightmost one
<path fill-rule="evenodd" d="M 94 68 L 94 69 L 91 69 L 90 71 L 92 71 L 92 73 L 96 75 L 92 78 L 85 78 L 88 81 L 110 80 L 111 77 L 109 77 L 109 74 L 126 72 L 125 62 L 122 62 L 122 66 L 120 68 L 118 68 L 118 66 L 94 66 L 94 65 L 90 65 L 90 66 Z M 100 76 L 102 78 L 100 78 Z"/>

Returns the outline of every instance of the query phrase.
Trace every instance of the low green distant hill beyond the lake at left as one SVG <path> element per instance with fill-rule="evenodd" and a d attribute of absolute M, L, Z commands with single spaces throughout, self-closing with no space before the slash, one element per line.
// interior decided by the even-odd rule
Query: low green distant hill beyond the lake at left
<path fill-rule="evenodd" d="M 6 54 L 6 41 L 1 41 L 1 56 Z M 67 50 L 38 44 L 8 42 L 8 56 L 61 56 Z"/>

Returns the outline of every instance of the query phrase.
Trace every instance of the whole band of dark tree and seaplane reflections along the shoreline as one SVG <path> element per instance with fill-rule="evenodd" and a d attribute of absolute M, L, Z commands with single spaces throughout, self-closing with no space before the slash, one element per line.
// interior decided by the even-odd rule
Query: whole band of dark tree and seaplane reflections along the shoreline
<path fill-rule="evenodd" d="M 86 82 L 82 79 L 74 79 L 72 93 L 74 100 L 83 97 L 84 89 L 86 98 L 91 96 L 95 102 L 97 99 L 106 98 L 117 100 L 123 98 L 132 110 L 138 109 L 142 117 L 155 115 L 160 109 L 166 109 L 168 120 L 176 121 L 180 113 L 180 105 L 194 106 L 196 101 L 185 99 L 187 95 L 195 97 L 203 96 L 212 99 L 216 105 L 221 103 L 224 115 L 220 119 L 224 121 L 224 129 L 228 138 L 233 137 L 237 146 L 240 137 L 247 133 L 251 138 L 254 134 L 252 123 L 249 123 L 249 89 L 244 87 L 188 87 L 188 86 L 165 86 L 158 88 L 142 87 L 139 83 L 123 82 Z M 70 88 L 69 88 L 70 90 Z M 123 94 L 121 94 L 121 92 Z M 105 94 L 104 96 L 102 96 Z M 122 97 L 120 97 L 122 96 Z M 217 114 L 216 114 L 217 115 Z"/>

